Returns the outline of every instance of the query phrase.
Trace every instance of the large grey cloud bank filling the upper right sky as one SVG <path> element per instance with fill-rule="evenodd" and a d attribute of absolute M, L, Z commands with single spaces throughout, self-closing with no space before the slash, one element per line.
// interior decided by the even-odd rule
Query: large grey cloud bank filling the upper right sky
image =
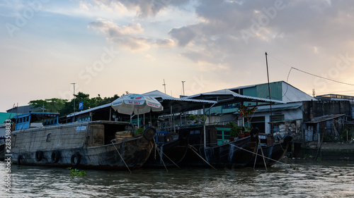
<path fill-rule="evenodd" d="M 353 45 L 350 35 L 354 27 L 348 25 L 353 20 L 353 4 L 320 0 L 199 1 L 195 13 L 200 22 L 172 28 L 169 35 L 190 60 L 229 66 L 265 50 L 285 48 L 289 56 L 297 50 L 304 54 L 338 54 L 333 49 Z M 249 35 L 245 37 L 242 31 Z"/>

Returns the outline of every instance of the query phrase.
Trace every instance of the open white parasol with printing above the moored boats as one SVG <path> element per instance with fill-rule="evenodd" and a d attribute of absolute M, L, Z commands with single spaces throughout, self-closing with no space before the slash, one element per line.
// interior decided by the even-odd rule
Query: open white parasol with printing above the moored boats
<path fill-rule="evenodd" d="M 159 101 L 153 97 L 144 96 L 141 94 L 126 94 L 112 102 L 112 108 L 118 113 L 127 115 L 136 115 L 149 113 L 150 111 L 163 111 Z"/>

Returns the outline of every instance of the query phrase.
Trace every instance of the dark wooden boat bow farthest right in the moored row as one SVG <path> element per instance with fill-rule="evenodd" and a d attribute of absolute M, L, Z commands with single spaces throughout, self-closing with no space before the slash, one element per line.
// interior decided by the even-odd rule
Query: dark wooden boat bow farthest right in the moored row
<path fill-rule="evenodd" d="M 259 138 L 261 140 L 260 144 L 255 145 L 260 145 L 261 147 L 258 146 L 257 155 L 253 156 L 248 166 L 273 166 L 285 156 L 287 147 L 292 140 L 291 136 L 287 136 L 281 142 L 275 142 L 273 135 L 265 133 L 260 133 Z"/>

